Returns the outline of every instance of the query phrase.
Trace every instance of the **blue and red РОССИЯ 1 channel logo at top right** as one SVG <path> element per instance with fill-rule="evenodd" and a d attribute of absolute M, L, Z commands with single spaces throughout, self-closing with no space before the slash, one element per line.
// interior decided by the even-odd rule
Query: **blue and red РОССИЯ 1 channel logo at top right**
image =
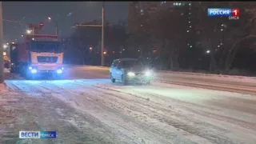
<path fill-rule="evenodd" d="M 229 9 L 229 8 L 209 8 L 209 17 L 228 17 L 229 19 L 239 19 L 240 10 L 239 9 Z"/>

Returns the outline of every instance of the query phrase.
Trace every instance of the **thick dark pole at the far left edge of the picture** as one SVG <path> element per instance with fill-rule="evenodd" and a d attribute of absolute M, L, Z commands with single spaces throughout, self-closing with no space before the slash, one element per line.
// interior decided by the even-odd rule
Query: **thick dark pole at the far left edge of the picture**
<path fill-rule="evenodd" d="M 0 2 L 0 83 L 4 82 L 3 78 L 3 31 L 2 31 L 2 2 Z"/>

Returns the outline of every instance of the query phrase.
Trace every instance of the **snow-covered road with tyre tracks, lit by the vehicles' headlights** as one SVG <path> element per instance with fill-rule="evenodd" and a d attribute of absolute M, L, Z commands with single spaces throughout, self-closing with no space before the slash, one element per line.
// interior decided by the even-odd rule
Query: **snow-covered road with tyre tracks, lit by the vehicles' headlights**
<path fill-rule="evenodd" d="M 104 68 L 66 70 L 66 80 L 6 80 L 0 143 L 256 143 L 256 94 L 121 86 Z M 19 130 L 57 130 L 58 138 L 22 140 Z"/>

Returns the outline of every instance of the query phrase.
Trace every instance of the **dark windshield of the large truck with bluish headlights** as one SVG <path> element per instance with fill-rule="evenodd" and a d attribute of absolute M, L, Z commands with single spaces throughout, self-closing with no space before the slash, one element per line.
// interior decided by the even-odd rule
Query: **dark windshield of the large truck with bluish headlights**
<path fill-rule="evenodd" d="M 30 50 L 39 53 L 61 53 L 60 42 L 31 42 Z"/>

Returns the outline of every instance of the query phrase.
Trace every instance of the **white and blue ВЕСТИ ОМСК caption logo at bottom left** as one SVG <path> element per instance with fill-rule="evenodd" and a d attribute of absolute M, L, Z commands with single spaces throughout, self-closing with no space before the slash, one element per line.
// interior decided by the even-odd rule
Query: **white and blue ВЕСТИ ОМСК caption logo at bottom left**
<path fill-rule="evenodd" d="M 56 131 L 19 131 L 19 138 L 56 138 Z"/>

